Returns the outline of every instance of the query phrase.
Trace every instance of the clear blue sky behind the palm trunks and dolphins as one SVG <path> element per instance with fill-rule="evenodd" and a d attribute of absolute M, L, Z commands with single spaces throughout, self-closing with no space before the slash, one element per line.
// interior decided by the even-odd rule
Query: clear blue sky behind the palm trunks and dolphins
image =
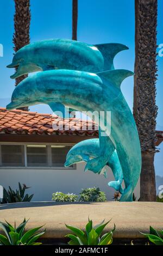
<path fill-rule="evenodd" d="M 32 21 L 30 41 L 49 38 L 71 39 L 72 0 L 31 0 Z M 134 0 L 78 0 L 78 40 L 90 44 L 120 42 L 129 50 L 118 53 L 115 57 L 115 68 L 134 70 Z M 10 79 L 12 69 L 5 66 L 11 63 L 13 54 L 12 34 L 14 32 L 14 0 L 0 0 L 0 44 L 3 44 L 3 57 L 0 57 L 1 94 L 0 106 L 5 107 L 14 90 L 14 81 Z M 163 43 L 163 1 L 158 0 L 158 45 Z M 156 83 L 156 103 L 159 107 L 157 129 L 163 130 L 163 57 L 158 57 L 158 81 Z M 122 83 L 122 92 L 132 109 L 133 77 Z M 30 107 L 30 111 L 51 113 L 46 105 Z M 163 176 L 162 159 L 163 143 L 160 153 L 155 156 L 156 174 Z"/>

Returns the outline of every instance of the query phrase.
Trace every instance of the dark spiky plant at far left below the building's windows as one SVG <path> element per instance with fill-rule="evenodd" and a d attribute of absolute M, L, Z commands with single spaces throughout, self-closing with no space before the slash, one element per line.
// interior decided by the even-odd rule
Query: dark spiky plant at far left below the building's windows
<path fill-rule="evenodd" d="M 3 199 L 0 201 L 1 204 L 7 204 L 7 203 L 18 203 L 18 202 L 30 202 L 30 200 L 33 198 L 34 194 L 28 195 L 26 194 L 24 196 L 25 191 L 28 189 L 25 184 L 21 186 L 20 182 L 18 182 L 18 190 L 14 191 L 9 186 L 9 190 L 7 191 L 5 188 L 3 188 Z"/>

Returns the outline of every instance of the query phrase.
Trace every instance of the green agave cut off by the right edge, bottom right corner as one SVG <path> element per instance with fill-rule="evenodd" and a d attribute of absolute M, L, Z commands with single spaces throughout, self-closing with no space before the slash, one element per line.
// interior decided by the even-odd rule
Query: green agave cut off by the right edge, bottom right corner
<path fill-rule="evenodd" d="M 151 241 L 155 245 L 163 245 L 163 229 L 160 231 L 156 231 L 154 228 L 150 226 L 149 234 L 141 234 L 148 237 L 149 241 Z"/>

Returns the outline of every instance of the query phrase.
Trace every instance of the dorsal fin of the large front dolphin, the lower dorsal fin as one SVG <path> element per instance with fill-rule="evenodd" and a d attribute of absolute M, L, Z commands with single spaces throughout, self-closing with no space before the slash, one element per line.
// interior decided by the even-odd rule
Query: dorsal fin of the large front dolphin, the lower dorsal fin
<path fill-rule="evenodd" d="M 133 76 L 134 73 L 126 69 L 115 69 L 96 73 L 102 79 L 108 80 L 111 84 L 120 89 L 122 81 L 128 76 Z"/>

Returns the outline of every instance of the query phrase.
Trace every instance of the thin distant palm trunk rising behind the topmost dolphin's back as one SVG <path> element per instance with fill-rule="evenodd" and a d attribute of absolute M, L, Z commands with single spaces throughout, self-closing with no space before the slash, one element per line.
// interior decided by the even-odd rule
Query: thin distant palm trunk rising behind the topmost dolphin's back
<path fill-rule="evenodd" d="M 77 40 L 78 0 L 72 0 L 72 39 Z"/>

